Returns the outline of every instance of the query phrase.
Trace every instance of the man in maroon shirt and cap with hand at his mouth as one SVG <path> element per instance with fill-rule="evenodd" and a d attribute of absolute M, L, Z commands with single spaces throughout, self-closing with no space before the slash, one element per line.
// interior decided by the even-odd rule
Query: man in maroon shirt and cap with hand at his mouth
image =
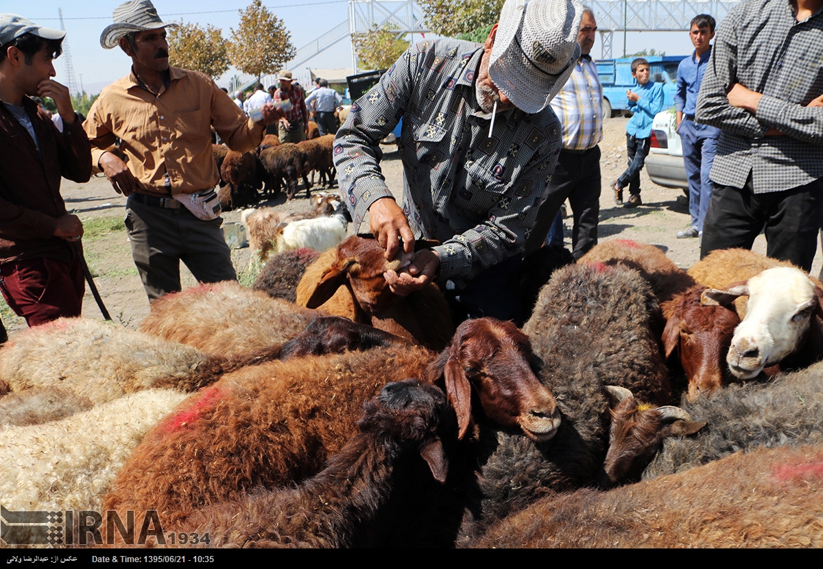
<path fill-rule="evenodd" d="M 0 292 L 29 326 L 79 316 L 84 293 L 77 254 L 83 226 L 60 197 L 60 178 L 87 182 L 91 146 L 68 89 L 53 81 L 65 32 L 0 14 Z M 51 97 L 58 131 L 30 99 Z"/>

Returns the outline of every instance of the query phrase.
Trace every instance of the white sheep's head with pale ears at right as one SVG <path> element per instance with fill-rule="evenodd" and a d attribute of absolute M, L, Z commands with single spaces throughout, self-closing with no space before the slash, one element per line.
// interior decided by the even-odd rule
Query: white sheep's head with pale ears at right
<path fill-rule="evenodd" d="M 746 294 L 746 317 L 734 331 L 726 358 L 732 373 L 741 379 L 756 377 L 801 348 L 811 319 L 823 317 L 823 291 L 796 268 L 767 269 L 746 283 L 704 293 L 717 299 Z"/>

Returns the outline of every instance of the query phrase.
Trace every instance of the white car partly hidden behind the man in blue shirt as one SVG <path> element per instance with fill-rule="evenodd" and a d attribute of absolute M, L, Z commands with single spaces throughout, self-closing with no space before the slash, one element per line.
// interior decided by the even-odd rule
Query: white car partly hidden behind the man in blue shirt
<path fill-rule="evenodd" d="M 683 165 L 683 148 L 676 125 L 674 109 L 654 115 L 646 171 L 652 182 L 658 186 L 680 187 L 688 191 L 689 182 L 686 179 L 686 167 Z"/>

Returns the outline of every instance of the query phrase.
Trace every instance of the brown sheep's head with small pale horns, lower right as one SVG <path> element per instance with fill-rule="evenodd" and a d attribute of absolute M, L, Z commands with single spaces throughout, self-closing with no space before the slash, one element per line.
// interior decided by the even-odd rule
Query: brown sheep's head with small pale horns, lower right
<path fill-rule="evenodd" d="M 704 428 L 685 410 L 639 402 L 625 387 L 606 386 L 615 406 L 611 409 L 609 451 L 598 475 L 602 488 L 636 482 L 666 437 L 685 437 Z"/>

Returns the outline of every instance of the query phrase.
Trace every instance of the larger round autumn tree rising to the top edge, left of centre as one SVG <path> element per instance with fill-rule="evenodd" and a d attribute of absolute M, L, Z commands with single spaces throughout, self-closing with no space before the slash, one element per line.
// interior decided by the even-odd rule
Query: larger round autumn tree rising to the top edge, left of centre
<path fill-rule="evenodd" d="M 294 58 L 295 46 L 286 25 L 261 0 L 239 12 L 239 28 L 231 28 L 231 63 L 260 81 L 261 76 L 277 72 Z"/>

